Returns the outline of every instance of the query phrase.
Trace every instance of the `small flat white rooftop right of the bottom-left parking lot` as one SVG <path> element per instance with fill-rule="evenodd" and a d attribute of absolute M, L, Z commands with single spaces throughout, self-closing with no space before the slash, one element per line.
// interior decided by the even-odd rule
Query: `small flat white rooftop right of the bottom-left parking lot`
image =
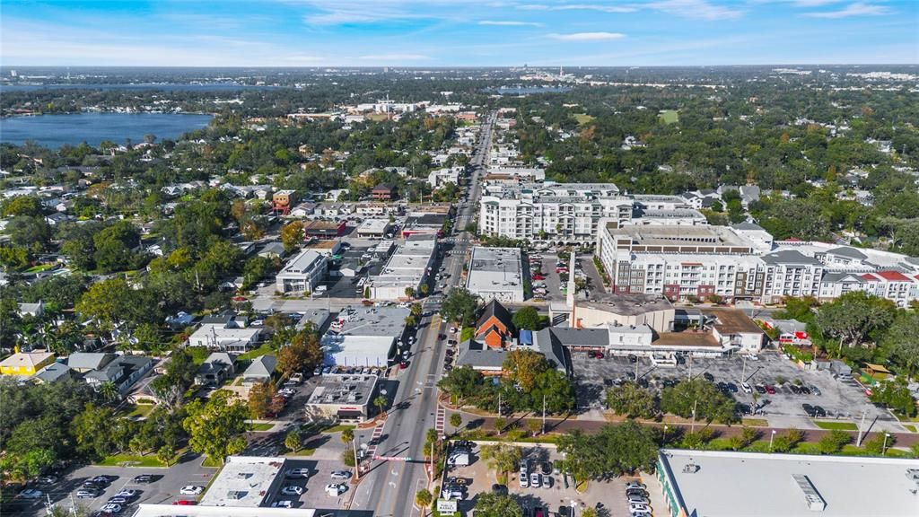
<path fill-rule="evenodd" d="M 284 458 L 229 456 L 220 474 L 201 497 L 201 506 L 263 506 L 271 494 L 275 477 L 284 468 Z"/>

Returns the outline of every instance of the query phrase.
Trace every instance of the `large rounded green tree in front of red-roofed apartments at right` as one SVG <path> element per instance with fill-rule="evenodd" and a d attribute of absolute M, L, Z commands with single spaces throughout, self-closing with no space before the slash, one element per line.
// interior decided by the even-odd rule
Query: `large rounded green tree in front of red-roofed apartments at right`
<path fill-rule="evenodd" d="M 864 291 L 845 293 L 829 304 L 823 304 L 814 318 L 824 336 L 844 344 L 862 344 L 874 330 L 887 327 L 896 314 L 896 305 Z"/>

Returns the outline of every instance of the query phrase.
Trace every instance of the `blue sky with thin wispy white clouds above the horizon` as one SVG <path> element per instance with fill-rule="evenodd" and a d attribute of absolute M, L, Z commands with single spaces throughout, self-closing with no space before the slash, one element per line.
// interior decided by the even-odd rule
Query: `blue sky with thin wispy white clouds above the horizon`
<path fill-rule="evenodd" d="M 3 0 L 3 65 L 919 63 L 919 0 Z"/>

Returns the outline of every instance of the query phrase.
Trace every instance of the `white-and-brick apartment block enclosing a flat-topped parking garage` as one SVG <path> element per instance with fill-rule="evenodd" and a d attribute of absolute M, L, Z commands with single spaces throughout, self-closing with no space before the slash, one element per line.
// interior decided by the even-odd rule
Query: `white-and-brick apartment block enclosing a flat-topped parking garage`
<path fill-rule="evenodd" d="M 766 285 L 766 264 L 753 244 L 724 226 L 607 222 L 596 254 L 615 293 L 758 299 Z"/>

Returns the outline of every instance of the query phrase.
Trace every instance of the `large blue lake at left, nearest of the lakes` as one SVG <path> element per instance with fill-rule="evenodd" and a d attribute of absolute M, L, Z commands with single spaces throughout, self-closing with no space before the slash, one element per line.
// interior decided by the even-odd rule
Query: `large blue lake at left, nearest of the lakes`
<path fill-rule="evenodd" d="M 157 140 L 175 140 L 185 132 L 201 129 L 210 123 L 211 115 L 180 113 L 78 113 L 74 115 L 37 115 L 0 119 L 0 142 L 23 144 L 34 140 L 46 147 L 63 144 L 98 145 L 103 140 L 124 144 L 143 142 L 143 135 L 153 133 Z"/>

